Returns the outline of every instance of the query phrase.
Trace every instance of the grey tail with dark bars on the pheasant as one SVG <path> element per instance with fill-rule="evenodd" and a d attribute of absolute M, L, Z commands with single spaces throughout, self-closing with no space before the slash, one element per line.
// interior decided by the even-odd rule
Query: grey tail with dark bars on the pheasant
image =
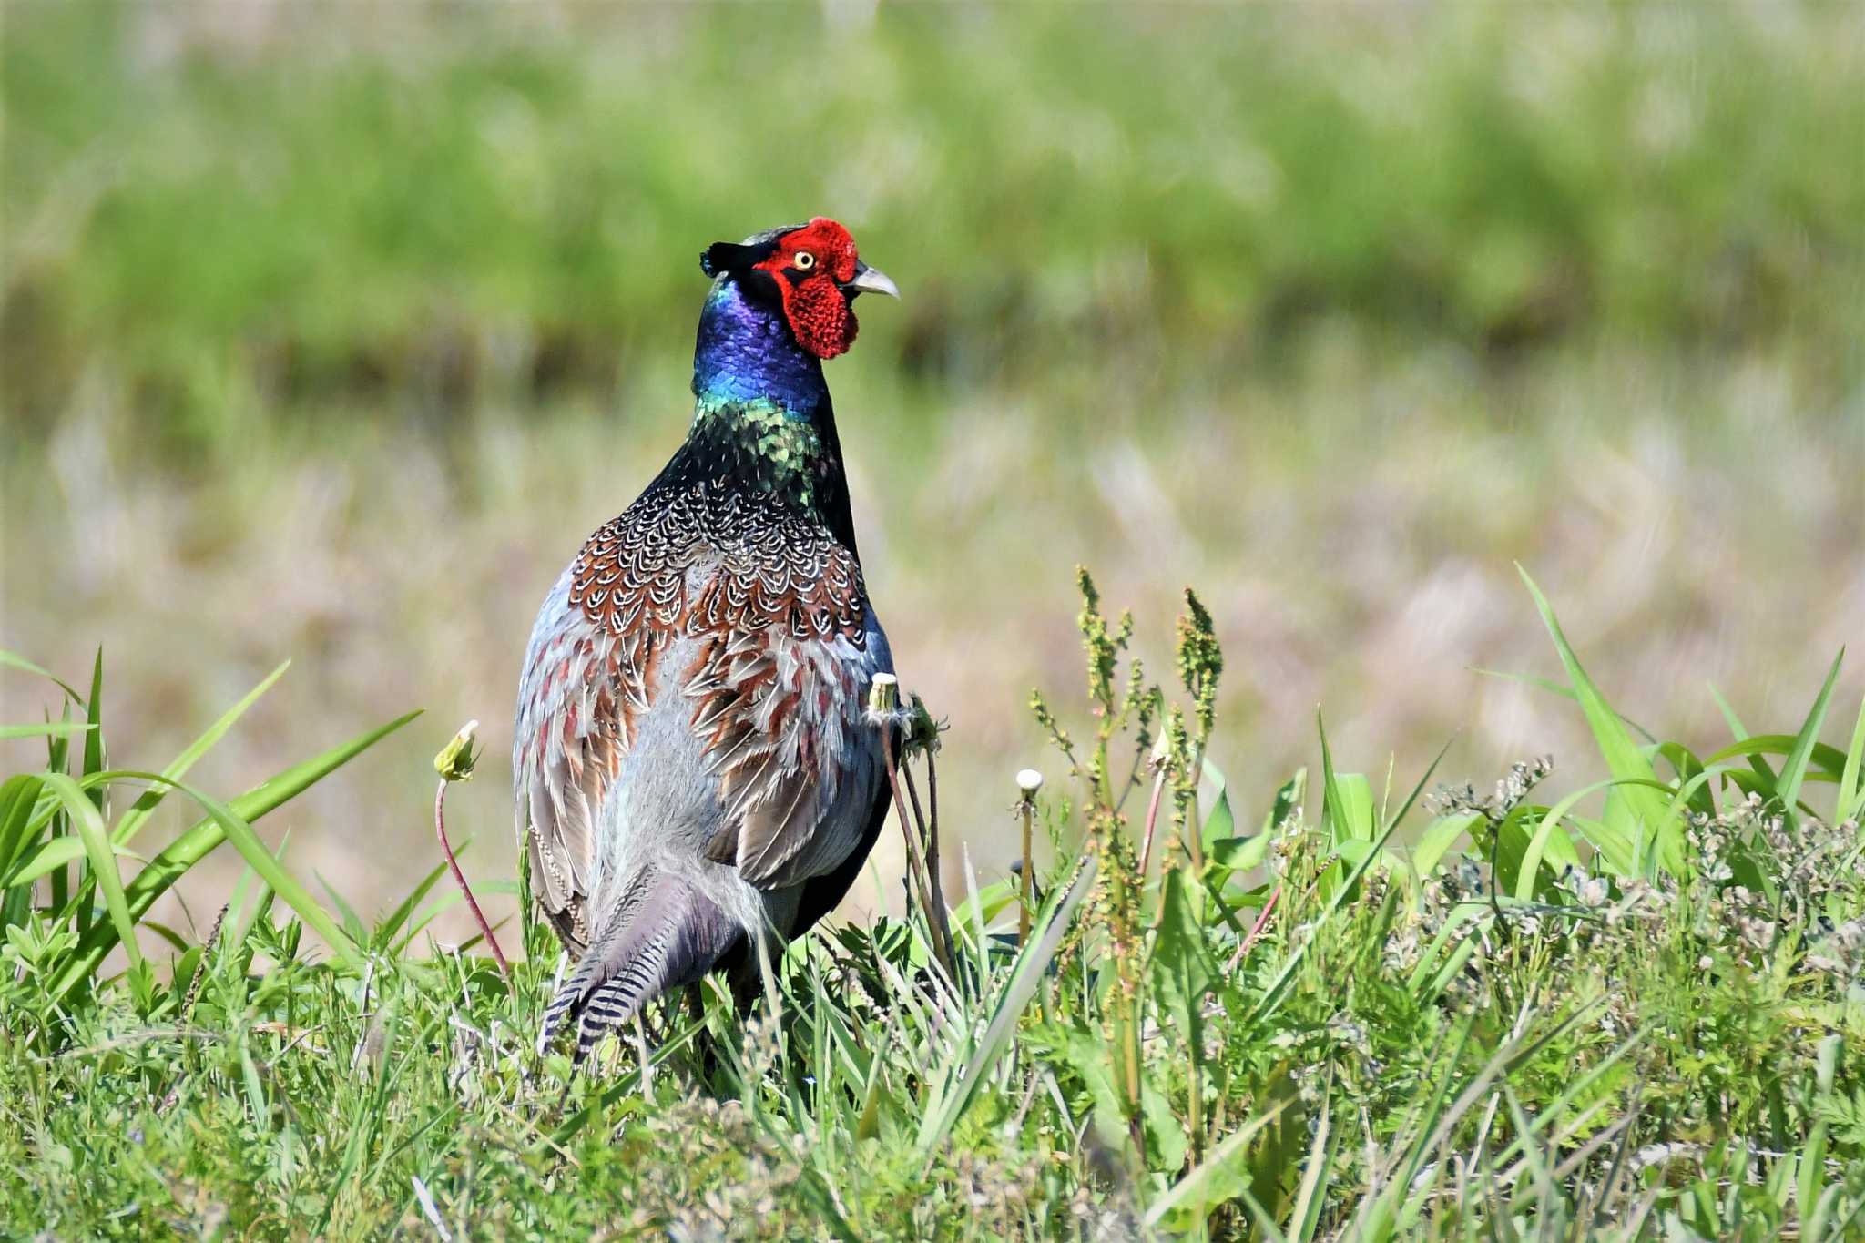
<path fill-rule="evenodd" d="M 574 1025 L 582 1062 L 649 1001 L 701 978 L 742 936 L 692 881 L 653 865 L 636 872 L 604 913 L 576 973 L 545 1010 L 537 1047 Z"/>

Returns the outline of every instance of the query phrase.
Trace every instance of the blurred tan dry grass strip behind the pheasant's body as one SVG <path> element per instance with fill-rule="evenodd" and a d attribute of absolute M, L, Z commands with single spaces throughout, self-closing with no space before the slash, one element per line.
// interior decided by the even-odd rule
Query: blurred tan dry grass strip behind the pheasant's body
<path fill-rule="evenodd" d="M 1141 634 L 1167 632 L 1179 587 L 1201 585 L 1233 654 L 1227 738 L 1244 747 L 1214 758 L 1246 814 L 1306 757 L 1317 704 L 1339 753 L 1371 770 L 1375 747 L 1402 740 L 1399 772 L 1417 772 L 1458 731 L 1447 772 L 1582 751 L 1565 704 L 1473 673 L 1552 671 L 1513 561 L 1563 602 L 1630 716 L 1705 747 L 1725 732 L 1705 678 L 1757 719 L 1790 719 L 1831 650 L 1861 637 L 1861 419 L 1809 414 L 1766 360 L 1501 375 L 1371 363 L 1345 341 L 1294 380 L 1199 393 L 1179 376 L 1087 414 L 1069 393 L 891 389 L 888 356 L 834 376 L 856 522 L 903 678 L 951 719 L 946 824 L 985 878 L 1015 850 L 1013 773 L 1044 758 L 1026 688 L 1078 676 L 1074 561 L 1138 606 Z M 425 706 L 265 826 L 295 827 L 300 867 L 366 913 L 433 863 L 429 757 L 479 717 L 485 779 L 457 792 L 449 824 L 474 839 L 470 874 L 509 876 L 502 727 L 524 637 L 584 533 L 681 434 L 683 393 L 658 384 L 615 414 L 485 410 L 444 440 L 272 425 L 237 470 L 188 483 L 145 470 L 127 416 L 93 389 L 43 458 L 4 462 L 7 514 L 32 520 L 6 526 L 0 643 L 63 671 L 103 643 L 116 732 L 142 747 L 116 757 L 131 764 L 166 760 L 293 656 L 211 757 L 214 788 Z M 1859 680 L 1850 669 L 1844 695 Z M 39 710 L 24 682 L 0 695 L 4 719 Z M 28 744 L 4 745 L 26 758 Z M 878 872 L 897 895 L 886 840 Z M 957 850 L 947 867 L 962 893 Z M 209 868 L 185 889 L 226 880 Z M 873 908 L 875 889 L 850 904 Z M 457 917 L 444 936 L 463 932 Z"/>

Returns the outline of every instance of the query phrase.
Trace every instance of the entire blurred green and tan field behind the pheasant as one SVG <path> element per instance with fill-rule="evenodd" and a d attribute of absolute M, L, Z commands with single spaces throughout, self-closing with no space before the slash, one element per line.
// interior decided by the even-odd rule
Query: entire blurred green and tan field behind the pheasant
<path fill-rule="evenodd" d="M 1447 775 L 1578 753 L 1473 673 L 1554 669 L 1513 561 L 1678 736 L 1720 736 L 1706 680 L 1790 729 L 1865 639 L 1861 6 L 4 19 L 0 643 L 103 643 L 149 766 L 297 658 L 211 788 L 425 704 L 295 805 L 358 904 L 429 865 L 464 717 L 449 822 L 509 874 L 524 637 L 683 434 L 696 255 L 817 212 L 905 291 L 832 384 L 987 878 L 1076 561 L 1160 671 L 1201 587 L 1251 803 L 1317 703 L 1406 781 L 1453 731 Z"/>

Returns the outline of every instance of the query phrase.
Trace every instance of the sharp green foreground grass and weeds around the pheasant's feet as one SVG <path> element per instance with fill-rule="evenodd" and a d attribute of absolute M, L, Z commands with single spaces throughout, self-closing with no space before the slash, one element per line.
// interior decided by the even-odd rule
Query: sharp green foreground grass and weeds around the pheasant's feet
<path fill-rule="evenodd" d="M 168 883 L 201 829 L 19 881 L 101 814 L 84 792 L 147 788 L 121 842 L 172 788 L 101 768 L 101 675 L 65 690 L 86 727 L 41 727 L 50 764 L 0 786 L 0 1232 L 1856 1237 L 1865 704 L 1837 719 L 1828 678 L 1781 732 L 1639 742 L 1537 591 L 1552 693 L 1598 744 L 1574 796 L 1539 801 L 1542 762 L 1481 796 L 1367 779 L 1326 732 L 1319 775 L 1246 790 L 1201 760 L 1223 658 L 1197 600 L 1167 693 L 1082 585 L 1087 710 L 1037 697 L 1072 777 L 1039 798 L 1056 863 L 1028 941 L 1016 893 L 968 872 L 951 975 L 923 908 L 841 926 L 753 1016 L 709 986 L 589 1073 L 533 1049 L 561 969 L 543 926 L 505 930 L 507 984 L 421 945 L 457 898 L 438 868 L 364 926 L 250 844 L 382 731 L 194 796 L 250 865 L 214 932 L 145 924 L 172 967 L 86 960 L 67 988 L 86 928 L 142 913 L 112 898 L 121 861 L 127 893 Z"/>

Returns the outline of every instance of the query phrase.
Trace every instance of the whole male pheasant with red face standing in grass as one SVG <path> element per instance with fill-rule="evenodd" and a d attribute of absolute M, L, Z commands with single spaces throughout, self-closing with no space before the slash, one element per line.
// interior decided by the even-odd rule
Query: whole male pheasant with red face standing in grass
<path fill-rule="evenodd" d="M 582 1060 L 753 937 L 800 936 L 854 883 L 888 781 L 869 682 L 891 673 L 862 583 L 822 360 L 860 293 L 899 296 L 817 218 L 716 242 L 694 419 L 532 628 L 513 796 L 532 891 L 576 969 L 539 1045 Z"/>

